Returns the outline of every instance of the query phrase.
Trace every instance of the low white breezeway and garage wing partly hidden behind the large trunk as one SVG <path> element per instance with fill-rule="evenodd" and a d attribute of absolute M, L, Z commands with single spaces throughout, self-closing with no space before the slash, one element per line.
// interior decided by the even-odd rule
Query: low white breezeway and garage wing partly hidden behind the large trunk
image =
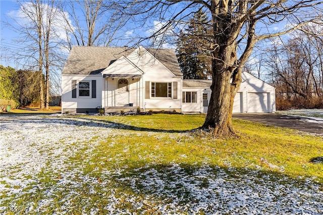
<path fill-rule="evenodd" d="M 207 112 L 211 83 L 211 80 L 183 80 L 182 111 L 184 113 Z M 193 95 L 193 99 L 190 99 L 192 96 L 189 98 L 189 95 Z M 242 83 L 234 98 L 233 113 L 273 113 L 275 111 L 275 87 L 249 73 L 242 73 Z"/>

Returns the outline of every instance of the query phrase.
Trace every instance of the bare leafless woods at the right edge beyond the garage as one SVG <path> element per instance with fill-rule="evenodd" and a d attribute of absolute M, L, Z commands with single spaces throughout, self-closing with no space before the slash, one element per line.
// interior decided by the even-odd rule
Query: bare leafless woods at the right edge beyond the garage
<path fill-rule="evenodd" d="M 305 26 L 268 47 L 264 69 L 276 87 L 277 109 L 323 108 L 323 29 Z"/>

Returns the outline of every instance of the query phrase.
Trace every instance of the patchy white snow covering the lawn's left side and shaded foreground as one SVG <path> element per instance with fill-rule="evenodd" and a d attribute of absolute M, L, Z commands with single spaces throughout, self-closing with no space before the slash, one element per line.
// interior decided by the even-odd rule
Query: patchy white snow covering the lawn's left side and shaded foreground
<path fill-rule="evenodd" d="M 313 180 L 299 184 L 257 171 L 238 173 L 233 168 L 207 165 L 188 171 L 178 164 L 164 169 L 148 165 L 124 175 L 126 169 L 102 171 L 99 181 L 69 158 L 85 150 L 80 159 L 86 163 L 101 138 L 124 132 L 114 129 L 115 124 L 45 115 L 2 116 L 0 122 L 0 195 L 7 195 L 0 199 L 0 213 L 8 211 L 3 205 L 12 196 L 18 199 L 26 193 L 41 193 L 36 203 L 24 199 L 28 206 L 25 213 L 44 213 L 50 207 L 56 214 L 71 213 L 76 207 L 71 202 L 77 201 L 83 214 L 101 214 L 102 208 L 98 208 L 94 197 L 77 200 L 82 192 L 88 192 L 88 196 L 98 194 L 100 204 L 104 202 L 102 207 L 110 214 L 131 214 L 129 208 L 121 205 L 161 214 L 323 213 L 323 192 Z M 41 181 L 42 172 L 60 177 L 48 186 Z M 137 195 L 118 193 L 117 188 L 110 186 L 113 180 Z M 63 199 L 57 199 L 58 196 Z M 60 208 L 56 208 L 57 202 Z M 16 204 L 13 200 L 11 207 Z"/>

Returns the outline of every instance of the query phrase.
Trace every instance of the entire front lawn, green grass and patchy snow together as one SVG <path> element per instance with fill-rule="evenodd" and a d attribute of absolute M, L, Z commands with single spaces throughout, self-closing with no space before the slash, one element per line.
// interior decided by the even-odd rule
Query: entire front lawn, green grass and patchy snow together
<path fill-rule="evenodd" d="M 322 137 L 242 120 L 237 138 L 189 132 L 204 117 L 3 117 L 0 212 L 323 212 Z"/>

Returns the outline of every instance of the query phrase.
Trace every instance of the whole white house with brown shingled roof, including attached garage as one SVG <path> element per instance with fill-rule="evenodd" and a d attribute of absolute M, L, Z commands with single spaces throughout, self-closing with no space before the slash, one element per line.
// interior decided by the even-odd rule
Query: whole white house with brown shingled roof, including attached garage
<path fill-rule="evenodd" d="M 74 46 L 62 71 L 62 113 L 205 113 L 209 87 L 183 80 L 174 49 Z M 274 111 L 275 88 L 243 73 L 235 112 Z"/>

